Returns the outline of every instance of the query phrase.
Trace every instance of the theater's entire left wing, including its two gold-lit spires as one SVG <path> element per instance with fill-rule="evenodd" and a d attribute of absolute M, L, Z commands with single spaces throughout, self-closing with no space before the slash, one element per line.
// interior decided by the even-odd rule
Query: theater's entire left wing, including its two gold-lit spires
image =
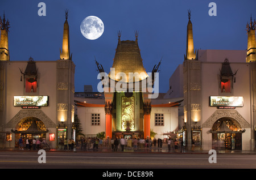
<path fill-rule="evenodd" d="M 75 65 L 69 50 L 68 14 L 63 48 L 56 61 L 10 59 L 9 22 L 1 19 L 0 147 L 45 138 L 52 148 L 73 136 Z M 13 52 L 15 53 L 15 52 Z"/>

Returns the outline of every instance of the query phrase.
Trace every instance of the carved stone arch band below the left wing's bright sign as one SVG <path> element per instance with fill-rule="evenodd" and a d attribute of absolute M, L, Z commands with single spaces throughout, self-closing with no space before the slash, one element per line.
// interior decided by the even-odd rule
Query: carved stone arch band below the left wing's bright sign
<path fill-rule="evenodd" d="M 42 110 L 20 110 L 14 117 L 6 124 L 6 128 L 14 128 L 22 119 L 26 117 L 36 117 L 40 119 L 46 128 L 56 127 L 55 123 Z"/>

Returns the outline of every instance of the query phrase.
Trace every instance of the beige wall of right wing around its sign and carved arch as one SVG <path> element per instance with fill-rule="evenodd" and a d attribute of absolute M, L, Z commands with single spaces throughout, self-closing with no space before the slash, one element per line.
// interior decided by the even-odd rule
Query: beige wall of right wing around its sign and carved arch
<path fill-rule="evenodd" d="M 236 110 L 248 123 L 250 123 L 250 66 L 247 63 L 230 63 L 234 73 L 237 71 L 236 83 L 233 83 L 232 93 L 220 93 L 220 70 L 222 62 L 203 62 L 202 63 L 202 120 L 203 123 L 211 117 L 216 107 L 211 107 L 209 102 L 210 96 L 243 96 L 243 107 L 237 107 Z M 210 82 L 210 83 L 209 83 Z M 234 110 L 231 110 L 232 112 Z M 224 112 L 230 110 L 224 110 Z M 240 118 L 240 117 L 237 117 Z M 212 134 L 209 134 L 210 128 L 203 128 L 203 148 L 212 148 Z M 242 149 L 248 150 L 250 139 L 250 128 L 242 134 Z"/>

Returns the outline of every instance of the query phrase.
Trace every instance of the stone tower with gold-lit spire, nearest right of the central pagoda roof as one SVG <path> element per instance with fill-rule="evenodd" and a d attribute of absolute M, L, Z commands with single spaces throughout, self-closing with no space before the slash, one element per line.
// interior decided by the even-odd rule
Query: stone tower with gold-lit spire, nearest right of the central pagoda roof
<path fill-rule="evenodd" d="M 187 48 L 183 62 L 184 123 L 187 128 L 187 145 L 191 148 L 192 128 L 201 125 L 201 62 L 193 52 L 191 11 L 188 11 Z"/>

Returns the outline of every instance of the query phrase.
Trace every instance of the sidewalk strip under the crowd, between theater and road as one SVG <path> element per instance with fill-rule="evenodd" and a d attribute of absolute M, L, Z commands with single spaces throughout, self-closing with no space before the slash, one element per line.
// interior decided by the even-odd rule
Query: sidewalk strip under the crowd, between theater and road
<path fill-rule="evenodd" d="M 19 150 L 19 148 L 0 148 L 1 151 L 18 151 L 18 152 L 29 152 L 30 150 Z M 124 151 L 121 151 L 121 148 L 118 148 L 117 151 L 114 152 L 113 149 L 87 149 L 87 151 L 84 151 L 81 149 L 81 147 L 76 147 L 73 151 L 64 151 L 64 149 L 55 149 L 51 148 L 51 150 L 46 150 L 47 152 L 79 152 L 79 153 L 177 153 L 177 154 L 182 154 L 180 152 L 180 149 L 178 149 L 177 152 L 174 151 L 174 149 L 171 149 L 171 151 L 168 151 L 168 146 L 167 144 L 163 144 L 162 148 L 158 148 L 155 146 L 152 146 L 152 148 L 145 148 L 145 149 L 137 149 L 136 151 L 131 148 L 131 147 L 126 147 Z M 33 151 L 32 151 L 33 152 Z M 217 150 L 217 154 L 254 154 L 256 155 L 256 150 L 250 151 L 250 150 Z M 183 153 L 193 153 L 193 154 L 209 154 L 209 150 L 199 150 L 196 149 L 195 151 L 188 151 L 184 149 Z M 210 153 L 211 154 L 211 153 Z"/>

